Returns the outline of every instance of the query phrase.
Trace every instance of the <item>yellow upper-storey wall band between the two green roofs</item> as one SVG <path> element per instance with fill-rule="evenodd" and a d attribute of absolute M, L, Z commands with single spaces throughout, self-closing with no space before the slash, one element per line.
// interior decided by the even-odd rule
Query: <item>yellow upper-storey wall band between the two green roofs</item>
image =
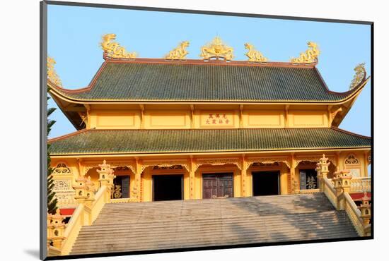
<path fill-rule="evenodd" d="M 136 109 L 93 107 L 88 113 L 88 128 L 97 129 L 172 129 L 172 128 L 325 128 L 330 127 L 326 109 L 279 106 L 243 107 L 237 105 L 202 106 L 197 109 L 148 106 Z"/>

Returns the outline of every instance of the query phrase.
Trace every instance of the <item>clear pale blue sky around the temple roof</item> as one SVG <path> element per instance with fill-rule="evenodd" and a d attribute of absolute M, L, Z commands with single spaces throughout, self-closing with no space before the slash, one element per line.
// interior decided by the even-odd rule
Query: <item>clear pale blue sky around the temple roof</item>
<path fill-rule="evenodd" d="M 162 58 L 182 40 L 190 41 L 189 59 L 216 35 L 234 48 L 234 60 L 246 60 L 243 44 L 250 42 L 269 61 L 289 61 L 306 50 L 306 42 L 320 47 L 318 70 L 330 90 L 344 92 L 357 63 L 371 69 L 370 25 L 243 18 L 187 13 L 133 11 L 77 6 L 48 6 L 48 54 L 64 87 L 85 87 L 103 63 L 101 36 L 115 33 L 117 42 L 139 57 Z M 57 107 L 52 102 L 50 107 Z M 57 109 L 50 138 L 75 131 Z M 371 135 L 371 83 L 368 83 L 339 128 Z"/>

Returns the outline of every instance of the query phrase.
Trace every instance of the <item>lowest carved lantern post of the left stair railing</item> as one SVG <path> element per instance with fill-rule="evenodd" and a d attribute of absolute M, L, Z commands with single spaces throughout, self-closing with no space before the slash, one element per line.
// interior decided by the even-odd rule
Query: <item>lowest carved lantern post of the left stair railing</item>
<path fill-rule="evenodd" d="M 52 246 L 58 250 L 62 249 L 62 242 L 64 242 L 64 217 L 59 213 L 59 209 L 55 214 L 49 214 L 47 223 L 47 240 L 52 241 Z"/>

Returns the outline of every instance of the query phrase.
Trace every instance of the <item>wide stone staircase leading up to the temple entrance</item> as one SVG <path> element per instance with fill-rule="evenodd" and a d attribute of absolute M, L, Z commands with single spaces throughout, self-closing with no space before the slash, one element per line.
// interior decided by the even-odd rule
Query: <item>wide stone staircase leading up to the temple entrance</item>
<path fill-rule="evenodd" d="M 323 193 L 106 204 L 71 255 L 357 237 Z"/>

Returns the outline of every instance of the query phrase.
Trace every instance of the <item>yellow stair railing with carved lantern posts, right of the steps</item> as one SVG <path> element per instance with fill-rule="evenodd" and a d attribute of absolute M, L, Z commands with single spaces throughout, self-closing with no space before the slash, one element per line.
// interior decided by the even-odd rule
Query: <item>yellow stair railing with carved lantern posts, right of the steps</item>
<path fill-rule="evenodd" d="M 370 184 L 370 181 L 366 181 L 368 180 L 367 178 L 356 178 L 354 182 L 348 170 L 337 171 L 335 172 L 335 178 L 332 178 L 332 180 L 328 179 L 328 163 L 325 155 L 320 159 L 317 166 L 316 171 L 318 171 L 320 192 L 325 193 L 337 210 L 344 210 L 347 213 L 359 236 L 371 236 L 371 205 L 366 190 L 360 207 L 356 206 L 354 200 L 349 195 L 349 192 L 352 191 L 353 183 L 363 183 L 366 185 L 367 182 Z"/>

